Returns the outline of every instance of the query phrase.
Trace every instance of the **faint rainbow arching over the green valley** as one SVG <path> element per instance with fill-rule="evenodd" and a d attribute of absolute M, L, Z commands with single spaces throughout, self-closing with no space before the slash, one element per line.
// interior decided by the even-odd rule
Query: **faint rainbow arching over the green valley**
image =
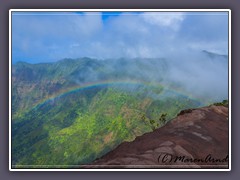
<path fill-rule="evenodd" d="M 96 88 L 96 87 L 104 87 L 104 86 L 113 87 L 113 86 L 117 86 L 117 85 L 138 85 L 138 86 L 143 85 L 143 86 L 146 86 L 146 87 L 162 86 L 162 84 L 160 84 L 160 83 L 152 83 L 152 82 L 137 81 L 137 80 L 105 80 L 105 81 L 89 82 L 89 83 L 85 83 L 85 84 L 82 84 L 82 85 L 73 86 L 73 87 L 70 87 L 70 88 L 67 88 L 67 89 L 64 89 L 64 90 L 60 90 L 52 96 L 47 96 L 46 98 L 37 102 L 33 106 L 33 108 L 37 108 L 39 106 L 44 105 L 45 103 L 48 103 L 50 101 L 55 100 L 56 98 L 61 98 L 63 96 L 66 96 L 66 95 L 74 93 L 74 92 L 78 92 L 80 90 L 89 89 L 89 88 Z M 179 89 L 169 89 L 169 88 L 164 86 L 164 90 L 168 90 L 168 91 L 177 93 L 179 95 L 189 97 L 189 95 L 186 95 L 185 93 L 180 92 Z M 189 98 L 193 99 L 191 97 L 189 97 Z"/>

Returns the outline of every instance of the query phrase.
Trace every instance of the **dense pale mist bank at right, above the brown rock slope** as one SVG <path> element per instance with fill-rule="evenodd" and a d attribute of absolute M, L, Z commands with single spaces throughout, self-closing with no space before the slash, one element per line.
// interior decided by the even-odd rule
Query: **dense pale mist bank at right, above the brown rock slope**
<path fill-rule="evenodd" d="M 179 86 L 194 98 L 209 102 L 228 99 L 228 57 L 192 52 L 172 57 L 167 82 Z"/>

